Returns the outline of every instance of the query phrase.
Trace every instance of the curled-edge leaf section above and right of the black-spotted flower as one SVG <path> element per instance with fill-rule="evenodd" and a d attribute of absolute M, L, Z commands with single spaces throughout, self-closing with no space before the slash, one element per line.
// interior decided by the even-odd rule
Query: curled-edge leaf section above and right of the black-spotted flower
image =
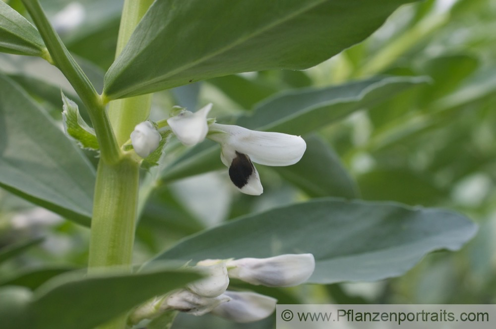
<path fill-rule="evenodd" d="M 373 77 L 338 86 L 282 92 L 259 103 L 252 116 L 241 117 L 237 124 L 303 135 L 429 81 L 427 77 Z"/>

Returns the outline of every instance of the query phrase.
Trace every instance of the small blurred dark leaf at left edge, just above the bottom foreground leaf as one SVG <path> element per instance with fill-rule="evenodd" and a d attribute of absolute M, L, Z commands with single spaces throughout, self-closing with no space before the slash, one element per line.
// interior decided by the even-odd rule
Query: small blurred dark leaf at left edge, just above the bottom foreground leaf
<path fill-rule="evenodd" d="M 14 277 L 2 280 L 0 282 L 0 286 L 18 285 L 34 290 L 52 277 L 74 270 L 76 270 L 76 268 L 74 268 L 73 266 L 59 266 L 22 271 L 20 274 L 17 274 Z"/>

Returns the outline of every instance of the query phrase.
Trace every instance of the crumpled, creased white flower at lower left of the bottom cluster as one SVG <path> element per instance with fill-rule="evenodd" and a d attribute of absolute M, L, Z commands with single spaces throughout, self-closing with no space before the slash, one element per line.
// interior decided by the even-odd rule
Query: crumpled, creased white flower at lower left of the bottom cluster
<path fill-rule="evenodd" d="M 186 289 L 181 289 L 167 296 L 162 304 L 161 310 L 173 309 L 192 315 L 203 315 L 230 299 L 229 296 L 224 294 L 210 298 L 197 295 Z"/>

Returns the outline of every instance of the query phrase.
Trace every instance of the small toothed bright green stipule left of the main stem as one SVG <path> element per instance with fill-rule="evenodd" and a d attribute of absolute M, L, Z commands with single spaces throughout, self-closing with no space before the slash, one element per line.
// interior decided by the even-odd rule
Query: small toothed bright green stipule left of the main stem
<path fill-rule="evenodd" d="M 83 149 L 98 150 L 95 129 L 91 128 L 79 114 L 77 104 L 62 93 L 62 122 L 67 136 L 75 139 Z"/>

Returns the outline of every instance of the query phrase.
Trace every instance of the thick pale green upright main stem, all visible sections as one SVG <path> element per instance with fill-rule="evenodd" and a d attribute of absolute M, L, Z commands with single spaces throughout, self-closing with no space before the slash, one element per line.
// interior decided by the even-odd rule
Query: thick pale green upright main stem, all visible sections
<path fill-rule="evenodd" d="M 152 0 L 125 0 L 118 39 L 118 56 Z M 109 118 L 117 144 L 129 139 L 134 126 L 148 118 L 151 95 L 109 104 Z M 89 273 L 112 266 L 131 270 L 137 218 L 139 164 L 131 157 L 119 163 L 98 165 L 91 223 Z M 99 329 L 124 329 L 124 314 Z"/>

